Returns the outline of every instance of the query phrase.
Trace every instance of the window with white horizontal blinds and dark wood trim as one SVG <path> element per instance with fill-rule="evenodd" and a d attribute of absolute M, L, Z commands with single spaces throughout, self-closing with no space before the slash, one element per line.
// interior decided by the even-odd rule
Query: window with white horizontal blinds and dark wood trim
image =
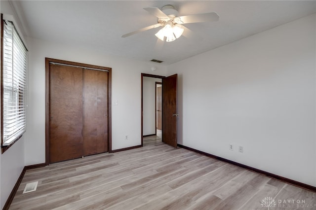
<path fill-rule="evenodd" d="M 13 22 L 1 14 L 1 150 L 26 131 L 27 49 Z"/>

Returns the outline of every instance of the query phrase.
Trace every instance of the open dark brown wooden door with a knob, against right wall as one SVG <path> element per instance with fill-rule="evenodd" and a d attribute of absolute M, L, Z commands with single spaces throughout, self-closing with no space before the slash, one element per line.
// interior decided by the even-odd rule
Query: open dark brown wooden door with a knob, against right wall
<path fill-rule="evenodd" d="M 177 148 L 177 78 L 162 79 L 162 142 Z"/>

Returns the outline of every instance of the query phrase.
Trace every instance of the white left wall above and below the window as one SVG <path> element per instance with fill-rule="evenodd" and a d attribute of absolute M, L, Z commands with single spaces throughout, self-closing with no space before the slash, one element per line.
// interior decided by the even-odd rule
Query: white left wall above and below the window
<path fill-rule="evenodd" d="M 14 15 L 11 5 L 6 0 L 0 1 L 0 11 L 3 14 Z M 15 25 L 20 28 L 17 23 Z M 21 36 L 23 37 L 23 34 Z M 23 168 L 24 135 L 3 154 L 0 154 L 0 209 L 3 208 Z"/>

